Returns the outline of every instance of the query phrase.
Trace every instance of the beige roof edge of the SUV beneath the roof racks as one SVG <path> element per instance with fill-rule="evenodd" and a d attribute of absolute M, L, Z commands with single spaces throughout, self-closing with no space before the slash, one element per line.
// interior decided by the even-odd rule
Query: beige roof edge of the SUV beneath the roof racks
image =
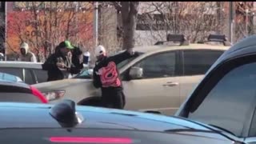
<path fill-rule="evenodd" d="M 210 45 L 210 44 L 194 44 L 191 43 L 187 46 L 168 46 L 168 45 L 157 45 L 157 46 L 138 46 L 134 47 L 135 51 L 141 53 L 147 53 L 151 51 L 164 51 L 164 50 L 228 50 L 230 46 L 221 46 L 221 45 Z"/>

